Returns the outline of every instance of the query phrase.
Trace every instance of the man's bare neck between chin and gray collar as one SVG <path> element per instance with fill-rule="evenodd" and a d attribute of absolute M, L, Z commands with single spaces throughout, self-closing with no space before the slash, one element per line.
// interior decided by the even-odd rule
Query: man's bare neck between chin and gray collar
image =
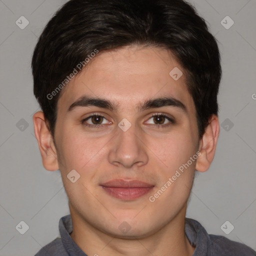
<path fill-rule="evenodd" d="M 100 231 L 77 214 L 71 205 L 69 208 L 73 224 L 70 236 L 87 255 L 151 256 L 171 253 L 172 256 L 192 256 L 195 249 L 184 232 L 186 204 L 157 232 L 129 239 Z"/>

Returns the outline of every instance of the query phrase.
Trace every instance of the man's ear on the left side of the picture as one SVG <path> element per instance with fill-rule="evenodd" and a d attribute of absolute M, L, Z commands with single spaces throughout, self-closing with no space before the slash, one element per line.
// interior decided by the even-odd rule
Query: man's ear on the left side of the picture
<path fill-rule="evenodd" d="M 47 170 L 57 170 L 56 148 L 42 111 L 38 111 L 33 115 L 33 123 L 34 134 L 38 142 L 44 168 Z"/>

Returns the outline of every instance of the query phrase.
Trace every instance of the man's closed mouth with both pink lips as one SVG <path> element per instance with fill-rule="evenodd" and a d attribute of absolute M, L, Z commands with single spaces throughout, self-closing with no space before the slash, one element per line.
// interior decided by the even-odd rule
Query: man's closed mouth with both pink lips
<path fill-rule="evenodd" d="M 141 180 L 113 179 L 100 184 L 104 191 L 115 198 L 134 200 L 147 194 L 154 185 Z"/>

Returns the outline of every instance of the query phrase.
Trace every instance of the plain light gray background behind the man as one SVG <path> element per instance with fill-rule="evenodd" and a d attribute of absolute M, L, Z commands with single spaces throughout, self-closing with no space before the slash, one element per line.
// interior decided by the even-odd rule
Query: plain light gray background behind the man
<path fill-rule="evenodd" d="M 32 124 L 39 108 L 30 70 L 37 37 L 64 2 L 0 0 L 1 256 L 34 255 L 58 236 L 58 220 L 69 213 L 59 171 L 41 164 Z M 223 77 L 215 158 L 208 171 L 196 174 L 187 217 L 199 220 L 208 233 L 256 250 L 256 1 L 191 2 L 219 41 Z M 22 15 L 29 21 L 24 29 L 15 24 Z M 229 29 L 221 24 L 227 15 L 234 21 Z M 21 220 L 29 226 L 24 234 L 15 229 Z M 226 220 L 234 226 L 229 234 L 220 228 Z"/>

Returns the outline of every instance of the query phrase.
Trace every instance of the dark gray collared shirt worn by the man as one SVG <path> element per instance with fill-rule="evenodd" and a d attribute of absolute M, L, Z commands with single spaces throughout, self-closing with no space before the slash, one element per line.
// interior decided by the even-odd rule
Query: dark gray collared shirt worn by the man
<path fill-rule="evenodd" d="M 35 256 L 87 256 L 69 235 L 73 229 L 70 214 L 59 219 L 58 228 L 61 238 L 57 237 L 42 247 Z M 208 234 L 198 221 L 191 218 L 185 218 L 185 234 L 195 246 L 192 256 L 256 256 L 256 251 L 245 244 Z"/>

